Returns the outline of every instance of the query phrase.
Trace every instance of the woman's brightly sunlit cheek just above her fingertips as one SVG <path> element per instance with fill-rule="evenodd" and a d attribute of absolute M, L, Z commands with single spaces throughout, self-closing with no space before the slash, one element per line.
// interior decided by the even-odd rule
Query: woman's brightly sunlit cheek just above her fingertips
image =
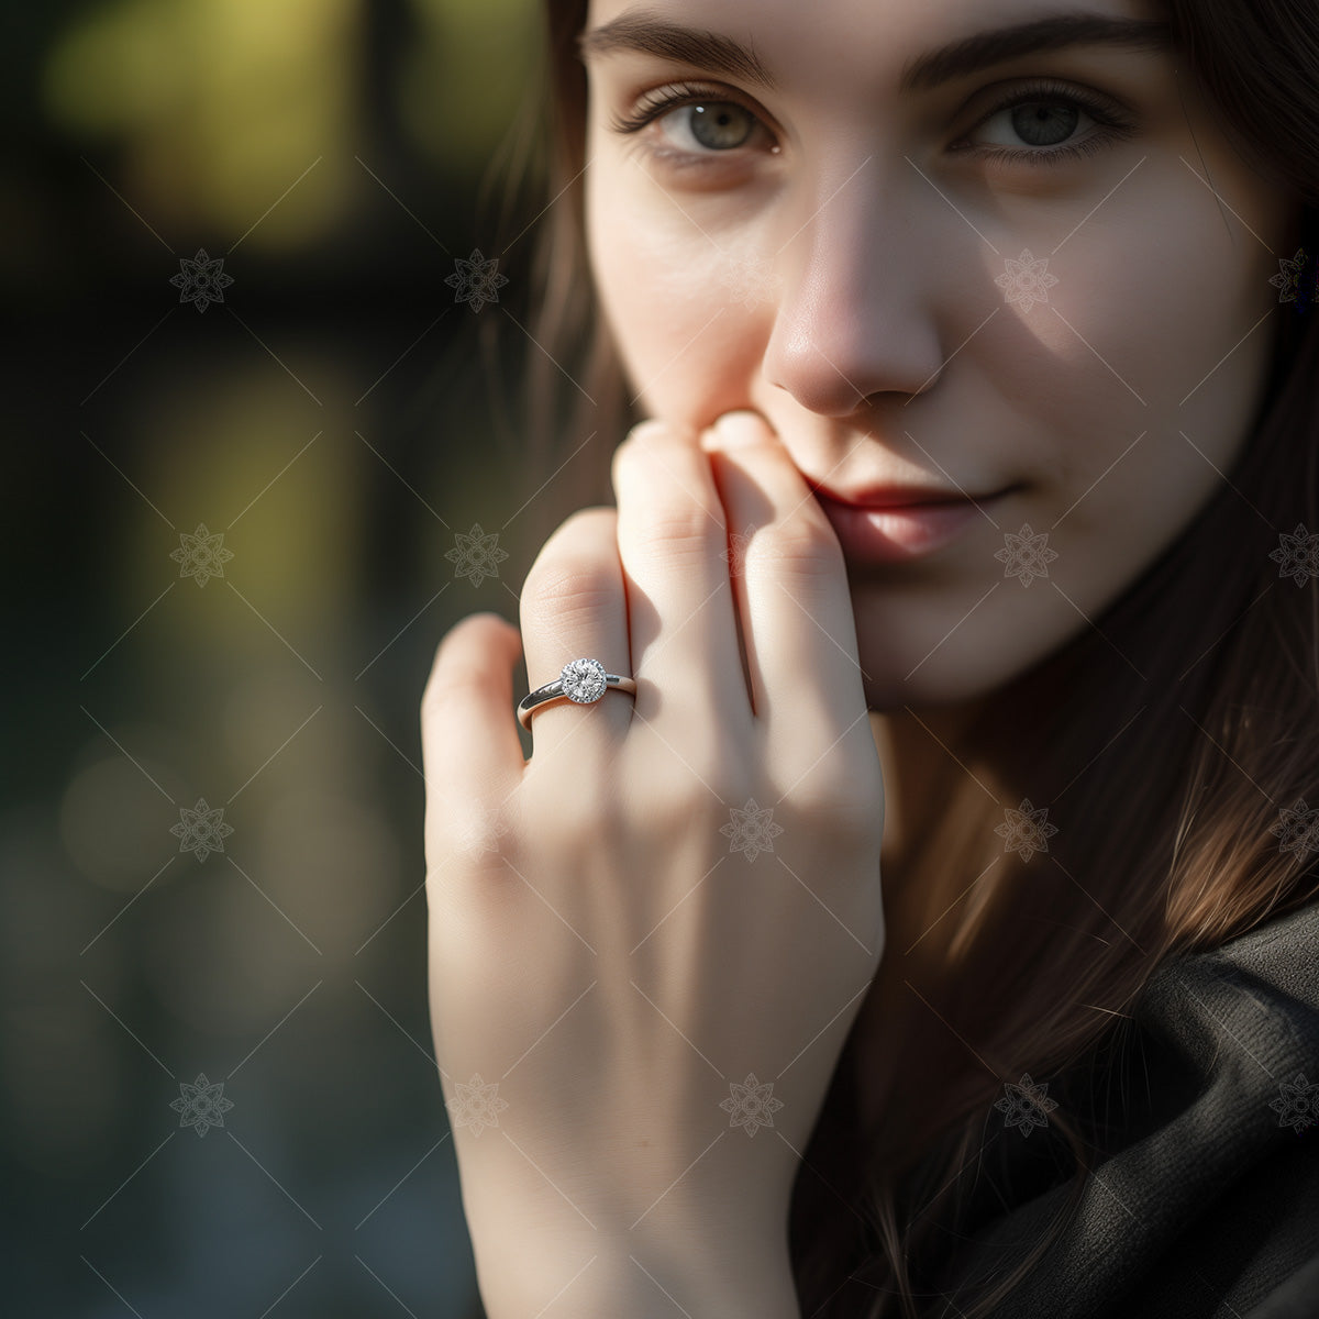
<path fill-rule="evenodd" d="M 646 414 L 704 426 L 747 405 L 773 305 L 741 295 L 733 253 L 660 200 L 641 206 L 621 187 L 590 187 L 591 268 L 629 398 Z"/>

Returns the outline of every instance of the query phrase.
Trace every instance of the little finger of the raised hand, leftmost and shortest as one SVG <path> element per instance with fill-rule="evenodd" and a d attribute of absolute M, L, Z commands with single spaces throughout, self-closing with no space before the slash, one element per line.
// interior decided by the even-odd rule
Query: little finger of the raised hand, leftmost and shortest
<path fill-rule="evenodd" d="M 496 613 L 471 613 L 445 633 L 421 698 L 426 780 L 426 860 L 439 831 L 475 836 L 522 778 L 522 744 L 512 721 L 520 637 Z"/>

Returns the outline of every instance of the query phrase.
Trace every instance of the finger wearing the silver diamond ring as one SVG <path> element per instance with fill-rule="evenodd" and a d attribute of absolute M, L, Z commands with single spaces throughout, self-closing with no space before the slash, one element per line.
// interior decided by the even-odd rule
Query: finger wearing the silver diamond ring
<path fill-rule="evenodd" d="M 559 678 L 572 660 L 599 660 L 605 673 L 632 677 L 627 598 L 619 563 L 617 514 L 583 508 L 565 520 L 541 547 L 521 596 L 522 646 L 532 690 Z M 532 714 L 538 766 L 558 761 L 572 739 L 580 757 L 616 745 L 632 719 L 632 698 L 607 689 L 599 700 L 539 706 Z M 574 769 L 566 764 L 565 772 Z"/>

